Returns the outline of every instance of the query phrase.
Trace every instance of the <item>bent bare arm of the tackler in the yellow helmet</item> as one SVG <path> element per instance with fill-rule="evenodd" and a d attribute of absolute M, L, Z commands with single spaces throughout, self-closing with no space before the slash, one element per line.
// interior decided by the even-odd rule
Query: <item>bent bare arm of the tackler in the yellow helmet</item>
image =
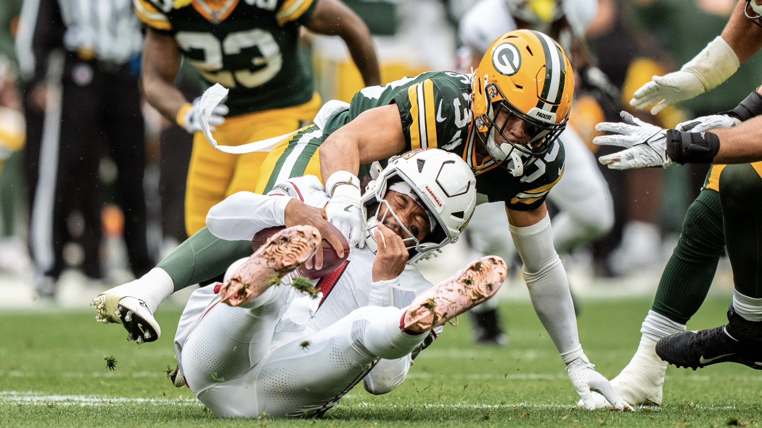
<path fill-rule="evenodd" d="M 389 158 L 403 150 L 405 135 L 397 106 L 376 107 L 360 113 L 325 139 L 320 146 L 320 174 L 325 179 L 336 171 L 357 175 L 360 164 Z"/>

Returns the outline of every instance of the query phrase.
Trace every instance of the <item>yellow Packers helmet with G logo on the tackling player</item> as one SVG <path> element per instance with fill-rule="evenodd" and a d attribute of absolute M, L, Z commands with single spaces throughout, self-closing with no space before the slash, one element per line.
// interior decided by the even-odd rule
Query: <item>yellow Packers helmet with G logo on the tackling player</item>
<path fill-rule="evenodd" d="M 546 34 L 514 30 L 495 40 L 472 81 L 474 125 L 495 163 L 520 175 L 523 166 L 545 155 L 566 127 L 573 93 L 568 58 Z M 507 119 L 498 128 L 495 119 L 501 111 Z M 526 145 L 503 133 L 512 116 L 527 123 Z M 511 143 L 498 146 L 496 132 Z"/>

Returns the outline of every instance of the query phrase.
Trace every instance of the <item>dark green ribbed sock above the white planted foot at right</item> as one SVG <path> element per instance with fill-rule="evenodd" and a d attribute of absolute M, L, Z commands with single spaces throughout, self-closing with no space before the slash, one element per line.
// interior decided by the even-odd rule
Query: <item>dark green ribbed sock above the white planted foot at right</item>
<path fill-rule="evenodd" d="M 686 324 L 706 299 L 725 238 L 719 193 L 701 190 L 690 204 L 680 239 L 661 273 L 653 311 Z"/>

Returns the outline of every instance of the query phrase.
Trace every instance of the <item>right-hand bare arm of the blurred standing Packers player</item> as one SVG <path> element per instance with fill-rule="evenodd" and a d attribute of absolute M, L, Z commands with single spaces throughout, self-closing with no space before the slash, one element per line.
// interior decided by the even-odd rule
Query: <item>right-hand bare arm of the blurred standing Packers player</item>
<path fill-rule="evenodd" d="M 363 75 L 365 86 L 381 85 L 379 62 L 370 30 L 360 17 L 338 0 L 320 0 L 312 19 L 306 24 L 319 34 L 338 36 L 347 43 L 349 53 Z"/>

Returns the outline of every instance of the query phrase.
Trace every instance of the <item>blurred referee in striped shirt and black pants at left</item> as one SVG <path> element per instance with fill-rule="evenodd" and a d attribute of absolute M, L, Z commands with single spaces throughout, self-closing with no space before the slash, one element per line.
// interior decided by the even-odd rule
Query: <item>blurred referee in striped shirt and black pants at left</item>
<path fill-rule="evenodd" d="M 53 297 L 63 250 L 78 241 L 82 270 L 102 276 L 101 158 L 113 158 L 133 274 L 151 267 L 143 193 L 145 140 L 138 89 L 142 34 L 129 2 L 24 2 L 16 50 L 24 79 L 27 194 L 36 291 Z M 78 213 L 78 215 L 75 215 Z"/>

